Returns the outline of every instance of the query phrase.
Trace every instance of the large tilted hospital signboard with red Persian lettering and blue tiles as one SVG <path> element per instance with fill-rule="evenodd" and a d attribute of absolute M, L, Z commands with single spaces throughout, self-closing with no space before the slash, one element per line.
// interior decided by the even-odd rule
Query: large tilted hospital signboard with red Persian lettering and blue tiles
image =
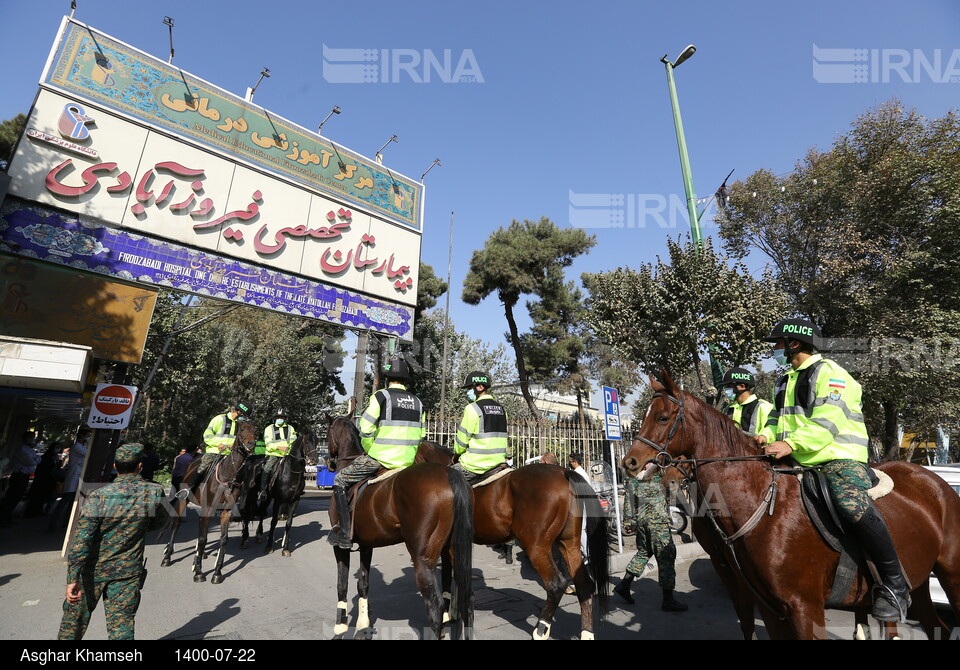
<path fill-rule="evenodd" d="M 410 337 L 421 184 L 87 26 L 9 174 L 8 251 Z"/>

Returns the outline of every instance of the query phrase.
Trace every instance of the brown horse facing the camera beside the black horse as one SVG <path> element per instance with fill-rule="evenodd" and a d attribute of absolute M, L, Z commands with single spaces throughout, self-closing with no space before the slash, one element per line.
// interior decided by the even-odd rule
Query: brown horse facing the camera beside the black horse
<path fill-rule="evenodd" d="M 230 453 L 210 467 L 203 481 L 190 491 L 188 499 L 174 500 L 176 514 L 173 515 L 170 540 L 163 551 L 161 566 L 166 567 L 171 564 L 170 555 L 173 553 L 173 541 L 177 529 L 180 528 L 180 521 L 186 513 L 187 503 L 195 502 L 200 505 L 200 532 L 197 536 L 197 549 L 193 559 L 193 581 L 207 581 L 203 574 L 203 559 L 207 557 L 205 552 L 207 531 L 214 515 L 220 517 L 220 545 L 217 551 L 217 564 L 210 581 L 213 584 L 223 581 L 221 568 L 223 567 L 223 549 L 227 544 L 227 530 L 230 527 L 237 494 L 243 484 L 243 464 L 247 456 L 253 453 L 256 442 L 256 426 L 250 421 L 237 421 L 237 436 Z M 183 481 L 189 482 L 199 467 L 200 458 L 195 458 L 187 468 Z"/>

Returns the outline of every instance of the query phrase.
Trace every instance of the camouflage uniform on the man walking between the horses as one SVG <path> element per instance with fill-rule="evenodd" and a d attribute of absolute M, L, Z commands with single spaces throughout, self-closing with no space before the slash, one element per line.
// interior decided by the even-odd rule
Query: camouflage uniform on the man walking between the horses
<path fill-rule="evenodd" d="M 640 577 L 650 557 L 656 557 L 660 586 L 672 590 L 677 581 L 677 547 L 670 534 L 660 475 L 645 482 L 628 477 L 623 498 L 623 517 L 634 523 L 637 529 L 637 553 L 627 564 L 626 571 Z"/>

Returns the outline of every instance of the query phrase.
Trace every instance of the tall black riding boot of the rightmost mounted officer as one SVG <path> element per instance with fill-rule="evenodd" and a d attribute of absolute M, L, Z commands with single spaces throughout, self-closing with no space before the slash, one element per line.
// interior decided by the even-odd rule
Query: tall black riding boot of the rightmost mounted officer
<path fill-rule="evenodd" d="M 887 523 L 872 506 L 853 526 L 860 547 L 877 567 L 880 584 L 874 587 L 873 610 L 871 614 L 877 621 L 905 623 L 907 608 L 910 607 L 910 588 L 903 576 L 900 559 Z"/>

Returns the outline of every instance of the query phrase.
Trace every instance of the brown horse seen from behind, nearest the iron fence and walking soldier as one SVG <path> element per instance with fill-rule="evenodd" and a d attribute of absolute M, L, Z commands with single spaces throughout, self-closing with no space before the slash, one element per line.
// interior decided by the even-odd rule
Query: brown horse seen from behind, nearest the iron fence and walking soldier
<path fill-rule="evenodd" d="M 432 442 L 422 442 L 417 460 L 450 465 L 453 454 Z M 593 639 L 593 594 L 599 593 L 602 610 L 609 575 L 607 518 L 593 488 L 570 470 L 536 463 L 513 470 L 473 492 L 474 542 L 502 544 L 516 539 L 543 580 L 547 600 L 533 631 L 534 639 L 550 636 L 553 615 L 567 585 L 553 558 L 554 545 L 558 546 L 577 589 L 580 637 Z M 580 551 L 584 517 L 588 565 L 584 565 Z"/>

